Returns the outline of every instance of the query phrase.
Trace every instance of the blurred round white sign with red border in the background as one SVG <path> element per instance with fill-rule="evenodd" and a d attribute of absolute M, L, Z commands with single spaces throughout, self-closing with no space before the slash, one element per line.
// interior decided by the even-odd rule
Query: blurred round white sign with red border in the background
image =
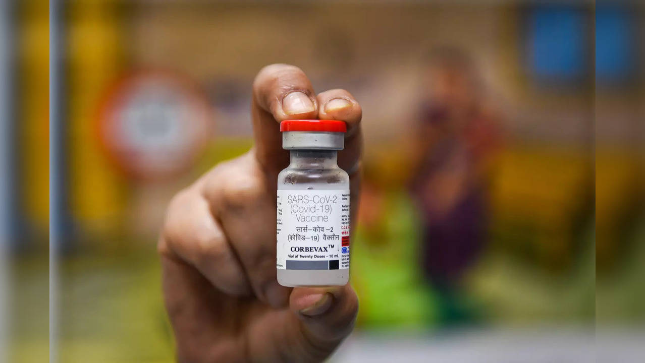
<path fill-rule="evenodd" d="M 98 134 L 110 157 L 133 177 L 165 179 L 190 168 L 213 136 L 206 97 L 188 79 L 146 71 L 108 92 Z"/>

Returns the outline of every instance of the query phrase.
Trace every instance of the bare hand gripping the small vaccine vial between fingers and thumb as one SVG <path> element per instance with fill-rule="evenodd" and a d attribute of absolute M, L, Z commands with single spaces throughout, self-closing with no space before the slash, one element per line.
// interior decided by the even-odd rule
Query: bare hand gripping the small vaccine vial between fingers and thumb
<path fill-rule="evenodd" d="M 289 163 L 280 121 L 348 124 L 339 166 L 350 174 L 352 229 L 361 182 L 361 106 L 314 93 L 304 72 L 264 67 L 253 82 L 254 146 L 170 202 L 159 237 L 163 294 L 179 362 L 320 362 L 352 331 L 353 288 L 286 288 L 275 271 L 277 175 Z"/>

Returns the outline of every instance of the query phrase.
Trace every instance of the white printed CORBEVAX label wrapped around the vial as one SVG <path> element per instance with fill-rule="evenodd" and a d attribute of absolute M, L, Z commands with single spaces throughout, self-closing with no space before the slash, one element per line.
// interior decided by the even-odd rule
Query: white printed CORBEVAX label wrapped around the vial
<path fill-rule="evenodd" d="M 276 267 L 350 268 L 349 190 L 278 190 Z"/>

